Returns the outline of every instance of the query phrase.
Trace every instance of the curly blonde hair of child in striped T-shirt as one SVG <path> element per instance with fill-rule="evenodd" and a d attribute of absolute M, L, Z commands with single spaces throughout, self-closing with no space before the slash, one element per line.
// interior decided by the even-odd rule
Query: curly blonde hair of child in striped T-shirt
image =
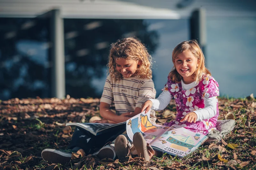
<path fill-rule="evenodd" d="M 116 70 L 116 59 L 119 58 L 141 62 L 135 75 L 139 78 L 152 78 L 152 57 L 138 38 L 124 38 L 111 44 L 108 71 L 112 80 L 120 80 L 122 78 L 122 74 Z"/>

